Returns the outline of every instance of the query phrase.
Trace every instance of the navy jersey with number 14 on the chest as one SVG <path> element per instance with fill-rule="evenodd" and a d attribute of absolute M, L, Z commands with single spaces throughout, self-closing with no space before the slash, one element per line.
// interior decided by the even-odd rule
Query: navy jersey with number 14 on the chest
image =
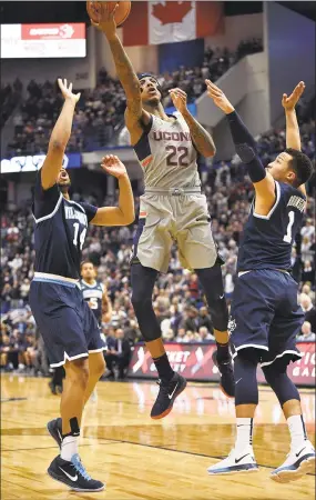
<path fill-rule="evenodd" d="M 40 172 L 32 210 L 35 220 L 34 271 L 80 279 L 81 251 L 96 207 L 65 200 L 57 184 L 43 190 Z"/>

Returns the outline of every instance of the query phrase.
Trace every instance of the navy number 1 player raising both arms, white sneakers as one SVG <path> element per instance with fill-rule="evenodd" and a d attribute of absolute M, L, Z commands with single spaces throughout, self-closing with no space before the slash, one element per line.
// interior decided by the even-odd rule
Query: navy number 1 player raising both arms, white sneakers
<path fill-rule="evenodd" d="M 290 451 L 271 478 L 288 482 L 315 471 L 315 449 L 307 439 L 299 393 L 287 376 L 288 363 L 302 356 L 296 336 L 304 321 L 297 304 L 298 284 L 290 276 L 290 252 L 306 207 L 304 184 L 313 172 L 310 160 L 300 152 L 295 113 L 304 88 L 304 82 L 299 82 L 289 97 L 283 96 L 286 150 L 264 169 L 256 143 L 237 112 L 222 90 L 207 81 L 208 96 L 226 114 L 236 152 L 255 188 L 241 241 L 238 280 L 228 324 L 235 348 L 237 436 L 228 458 L 210 467 L 211 474 L 258 470 L 252 444 L 258 363 L 278 398 L 290 433 Z"/>

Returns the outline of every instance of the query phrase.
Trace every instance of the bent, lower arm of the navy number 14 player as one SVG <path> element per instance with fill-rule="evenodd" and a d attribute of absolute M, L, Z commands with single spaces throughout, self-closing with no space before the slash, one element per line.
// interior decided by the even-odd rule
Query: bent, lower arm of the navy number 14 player
<path fill-rule="evenodd" d="M 102 159 L 102 169 L 119 180 L 119 207 L 99 208 L 91 220 L 94 226 L 129 226 L 135 219 L 134 199 L 126 169 L 113 154 Z"/>

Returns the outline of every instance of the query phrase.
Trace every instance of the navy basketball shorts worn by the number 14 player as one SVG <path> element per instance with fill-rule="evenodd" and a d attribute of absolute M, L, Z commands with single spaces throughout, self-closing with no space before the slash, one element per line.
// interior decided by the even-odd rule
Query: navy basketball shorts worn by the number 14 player
<path fill-rule="evenodd" d="M 30 306 L 51 367 L 106 350 L 96 319 L 77 284 L 34 279 Z"/>

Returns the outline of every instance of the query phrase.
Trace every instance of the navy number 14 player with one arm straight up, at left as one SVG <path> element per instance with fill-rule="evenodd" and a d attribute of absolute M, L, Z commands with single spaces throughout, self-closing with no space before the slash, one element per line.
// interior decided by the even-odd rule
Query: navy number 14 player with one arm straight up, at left
<path fill-rule="evenodd" d="M 63 366 L 65 370 L 61 419 L 48 423 L 61 451 L 48 473 L 72 490 L 101 491 L 104 484 L 90 478 L 78 454 L 83 407 L 104 372 L 105 348 L 80 289 L 81 250 L 89 223 L 130 224 L 134 220 L 134 203 L 125 167 L 112 156 L 103 158 L 101 167 L 119 179 L 119 207 L 96 208 L 70 200 L 70 178 L 62 160 L 80 94 L 72 92 L 72 83 L 68 86 L 67 80 L 58 83 L 64 104 L 34 189 L 35 272 L 30 289 L 30 304 L 51 367 Z"/>

